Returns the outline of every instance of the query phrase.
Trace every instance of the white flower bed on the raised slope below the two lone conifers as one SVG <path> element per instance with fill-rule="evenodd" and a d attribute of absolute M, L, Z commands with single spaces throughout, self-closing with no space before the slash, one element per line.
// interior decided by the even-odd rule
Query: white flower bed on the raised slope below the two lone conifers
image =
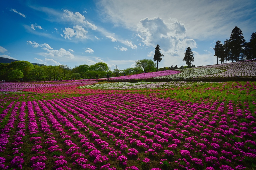
<path fill-rule="evenodd" d="M 174 79 L 174 78 L 193 78 L 193 77 L 212 77 L 212 74 L 223 72 L 221 69 L 216 68 L 187 68 L 179 69 L 178 74 L 154 77 L 154 79 Z"/>

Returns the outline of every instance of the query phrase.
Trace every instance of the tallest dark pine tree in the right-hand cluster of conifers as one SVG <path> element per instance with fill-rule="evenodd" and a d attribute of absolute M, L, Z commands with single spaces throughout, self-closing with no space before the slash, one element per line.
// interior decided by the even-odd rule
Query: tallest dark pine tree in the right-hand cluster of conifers
<path fill-rule="evenodd" d="M 245 40 L 242 31 L 237 26 L 232 30 L 229 39 L 231 61 L 239 61 Z"/>

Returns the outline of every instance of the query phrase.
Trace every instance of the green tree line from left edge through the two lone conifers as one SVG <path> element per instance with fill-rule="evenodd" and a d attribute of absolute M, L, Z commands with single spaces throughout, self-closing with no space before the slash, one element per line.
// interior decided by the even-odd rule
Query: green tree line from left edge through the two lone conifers
<path fill-rule="evenodd" d="M 141 59 L 137 60 L 135 67 L 119 70 L 118 67 L 111 71 L 106 63 L 98 62 L 93 65 L 83 64 L 73 69 L 67 65 L 59 66 L 38 66 L 28 61 L 14 61 L 11 63 L 0 63 L 0 80 L 2 81 L 53 81 L 53 80 L 71 80 L 71 79 L 93 79 L 98 74 L 98 78 L 106 77 L 107 74 L 112 76 L 132 75 L 146 72 L 155 72 L 172 69 L 182 69 L 195 67 L 191 48 L 187 48 L 183 61 L 188 66 L 172 66 L 158 69 L 158 63 L 161 62 L 164 55 L 161 54 L 160 46 L 155 47 L 154 60 Z M 154 62 L 156 61 L 156 63 Z"/>

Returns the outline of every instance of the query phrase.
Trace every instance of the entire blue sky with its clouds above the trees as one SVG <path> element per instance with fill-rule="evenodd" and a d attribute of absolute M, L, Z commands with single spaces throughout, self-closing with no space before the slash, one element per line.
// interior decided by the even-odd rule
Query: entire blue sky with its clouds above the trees
<path fill-rule="evenodd" d="M 256 32 L 254 0 L 1 1 L 0 57 L 70 68 L 105 62 L 113 70 L 153 59 L 158 68 L 216 64 L 215 42 L 235 26 L 248 42 Z"/>

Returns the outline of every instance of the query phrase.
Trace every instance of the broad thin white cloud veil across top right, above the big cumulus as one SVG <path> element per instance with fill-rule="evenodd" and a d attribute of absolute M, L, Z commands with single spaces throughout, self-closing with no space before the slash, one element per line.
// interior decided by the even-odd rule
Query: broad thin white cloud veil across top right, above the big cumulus
<path fill-rule="evenodd" d="M 228 0 L 200 1 L 180 0 L 118 1 L 100 0 L 97 2 L 105 20 L 135 31 L 143 18 L 159 17 L 168 21 L 176 18 L 185 24 L 187 36 L 193 39 L 208 39 L 230 36 L 235 25 L 240 29 L 255 32 L 255 1 Z M 143 8 L 142 8 L 143 7 Z M 227 17 L 228 16 L 228 17 Z M 249 16 L 249 17 L 248 17 Z"/>

